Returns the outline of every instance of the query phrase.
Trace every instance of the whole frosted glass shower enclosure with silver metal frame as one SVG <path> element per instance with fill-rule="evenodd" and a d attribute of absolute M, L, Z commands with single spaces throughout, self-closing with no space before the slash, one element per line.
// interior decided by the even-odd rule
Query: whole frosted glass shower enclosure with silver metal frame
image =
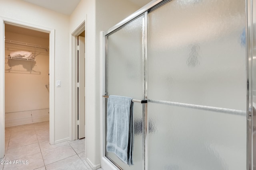
<path fill-rule="evenodd" d="M 103 95 L 147 100 L 134 103 L 134 165 L 105 148 L 107 160 L 123 170 L 253 170 L 255 3 L 155 0 L 105 33 Z"/>

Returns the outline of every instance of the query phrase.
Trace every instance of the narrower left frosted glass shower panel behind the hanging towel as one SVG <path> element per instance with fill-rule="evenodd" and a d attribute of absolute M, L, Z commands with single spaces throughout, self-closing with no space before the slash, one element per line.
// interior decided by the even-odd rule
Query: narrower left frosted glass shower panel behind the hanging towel
<path fill-rule="evenodd" d="M 143 18 L 131 21 L 106 37 L 107 95 L 144 99 Z M 144 169 L 142 106 L 134 102 L 134 165 L 129 167 L 112 152 L 106 152 L 106 156 L 123 170 Z"/>

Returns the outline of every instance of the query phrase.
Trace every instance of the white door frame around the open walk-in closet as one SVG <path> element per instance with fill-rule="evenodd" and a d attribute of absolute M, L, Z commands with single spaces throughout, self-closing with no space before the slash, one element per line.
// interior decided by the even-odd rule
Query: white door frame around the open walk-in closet
<path fill-rule="evenodd" d="M 50 144 L 54 144 L 54 70 L 55 70 L 55 29 L 44 27 L 41 25 L 34 25 L 32 23 L 26 23 L 23 21 L 13 20 L 10 18 L 0 17 L 0 158 L 4 157 L 5 154 L 5 94 L 4 94 L 4 84 L 5 84 L 5 71 L 4 71 L 4 40 L 5 31 L 4 25 L 14 25 L 17 27 L 23 27 L 27 29 L 32 29 L 35 31 L 49 33 L 49 82 L 50 82 L 50 94 L 49 94 L 49 119 L 50 119 Z"/>

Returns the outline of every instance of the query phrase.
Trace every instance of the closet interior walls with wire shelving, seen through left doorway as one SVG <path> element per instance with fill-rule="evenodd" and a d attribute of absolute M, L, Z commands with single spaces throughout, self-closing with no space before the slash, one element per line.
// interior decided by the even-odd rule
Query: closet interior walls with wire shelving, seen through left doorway
<path fill-rule="evenodd" d="M 49 33 L 5 24 L 5 127 L 49 121 Z"/>

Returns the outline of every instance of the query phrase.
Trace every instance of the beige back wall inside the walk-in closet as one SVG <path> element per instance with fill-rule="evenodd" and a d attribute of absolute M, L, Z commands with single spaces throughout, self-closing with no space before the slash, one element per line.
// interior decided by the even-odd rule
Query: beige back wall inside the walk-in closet
<path fill-rule="evenodd" d="M 5 38 L 49 47 L 49 39 L 5 32 Z M 6 60 L 5 112 L 27 111 L 49 108 L 49 52 L 33 47 L 5 45 L 5 54 L 12 51 L 30 51 L 36 54 L 36 61 Z M 32 69 L 32 70 L 31 70 Z"/>

